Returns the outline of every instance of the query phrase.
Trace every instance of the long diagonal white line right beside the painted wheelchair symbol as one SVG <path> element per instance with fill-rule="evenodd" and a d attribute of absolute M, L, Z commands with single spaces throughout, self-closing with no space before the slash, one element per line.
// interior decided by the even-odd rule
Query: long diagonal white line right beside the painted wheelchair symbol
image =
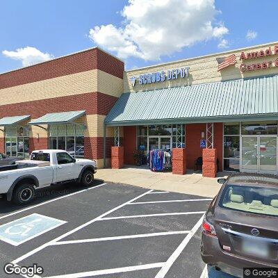
<path fill-rule="evenodd" d="M 94 218 L 88 222 L 85 222 L 84 224 L 80 225 L 79 227 L 76 227 L 75 229 L 72 229 L 71 231 L 68 231 L 67 233 L 58 236 L 58 238 L 54 238 L 53 240 L 50 240 L 48 243 L 44 243 L 43 245 L 41 245 L 40 247 L 35 248 L 34 250 L 24 254 L 23 256 L 19 256 L 19 258 L 15 259 L 14 261 L 12 261 L 12 263 L 19 263 L 20 261 L 23 261 L 24 259 L 28 258 L 29 256 L 32 256 L 33 254 L 43 250 L 45 247 L 48 247 L 49 245 L 51 245 L 52 243 L 56 243 L 58 240 L 61 240 L 67 236 L 70 236 L 71 234 L 74 234 L 76 231 L 79 231 L 80 229 L 83 229 L 84 227 L 87 227 L 88 225 L 92 224 L 93 222 L 99 221 L 101 218 L 103 218 L 104 216 L 113 213 L 113 211 L 117 211 L 117 209 L 122 208 L 123 206 L 125 206 L 126 204 L 129 204 L 130 202 L 135 201 L 136 199 L 139 199 L 142 196 L 147 195 L 149 192 L 152 192 L 152 189 L 142 193 L 141 195 L 125 202 L 124 204 L 120 204 L 120 206 L 116 206 L 115 208 L 112 208 L 110 211 L 106 211 L 106 213 L 103 213 L 101 215 L 99 215 L 97 218 Z"/>

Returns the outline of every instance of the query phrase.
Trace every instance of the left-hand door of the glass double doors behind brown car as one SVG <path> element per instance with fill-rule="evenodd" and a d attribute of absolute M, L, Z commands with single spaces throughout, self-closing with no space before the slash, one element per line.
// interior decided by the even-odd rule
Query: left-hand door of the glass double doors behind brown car
<path fill-rule="evenodd" d="M 241 144 L 241 172 L 258 172 L 258 138 L 243 136 Z"/>

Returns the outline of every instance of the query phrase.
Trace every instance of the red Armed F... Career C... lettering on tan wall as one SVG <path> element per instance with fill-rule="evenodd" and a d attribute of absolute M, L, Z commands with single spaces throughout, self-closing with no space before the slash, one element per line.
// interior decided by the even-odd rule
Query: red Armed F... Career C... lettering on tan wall
<path fill-rule="evenodd" d="M 254 52 L 249 52 L 245 54 L 244 52 L 241 52 L 240 54 L 240 60 L 250 60 L 250 59 L 256 59 L 256 58 L 267 58 L 268 56 L 272 55 L 277 55 L 278 54 L 278 45 L 275 45 L 274 50 L 272 51 L 271 47 L 268 47 L 268 49 L 261 50 L 261 51 L 254 51 Z M 242 63 L 240 65 L 240 71 L 241 72 L 252 72 L 254 70 L 265 70 L 270 67 L 278 67 L 278 58 L 273 61 L 273 60 L 266 60 L 261 63 L 252 63 L 252 64 L 247 64 L 247 63 Z"/>

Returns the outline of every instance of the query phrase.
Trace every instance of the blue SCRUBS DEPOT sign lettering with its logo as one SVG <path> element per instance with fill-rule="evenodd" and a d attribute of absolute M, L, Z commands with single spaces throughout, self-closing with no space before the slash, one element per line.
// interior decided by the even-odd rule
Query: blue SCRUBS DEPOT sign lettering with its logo
<path fill-rule="evenodd" d="M 174 70 L 152 72 L 148 74 L 141 74 L 140 76 L 132 76 L 130 81 L 132 86 L 135 86 L 136 83 L 145 85 L 147 83 L 158 83 L 165 80 L 170 81 L 175 79 L 183 79 L 188 77 L 188 75 L 189 67 L 181 67 Z"/>

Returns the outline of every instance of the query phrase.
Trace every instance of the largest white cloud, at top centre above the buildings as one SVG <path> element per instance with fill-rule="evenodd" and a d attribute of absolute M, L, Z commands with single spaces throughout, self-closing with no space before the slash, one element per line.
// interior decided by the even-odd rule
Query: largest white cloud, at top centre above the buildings
<path fill-rule="evenodd" d="M 214 0 L 129 0 L 124 24 L 95 26 L 89 38 L 120 58 L 159 60 L 196 42 L 222 38 L 229 30 L 215 24 Z"/>

